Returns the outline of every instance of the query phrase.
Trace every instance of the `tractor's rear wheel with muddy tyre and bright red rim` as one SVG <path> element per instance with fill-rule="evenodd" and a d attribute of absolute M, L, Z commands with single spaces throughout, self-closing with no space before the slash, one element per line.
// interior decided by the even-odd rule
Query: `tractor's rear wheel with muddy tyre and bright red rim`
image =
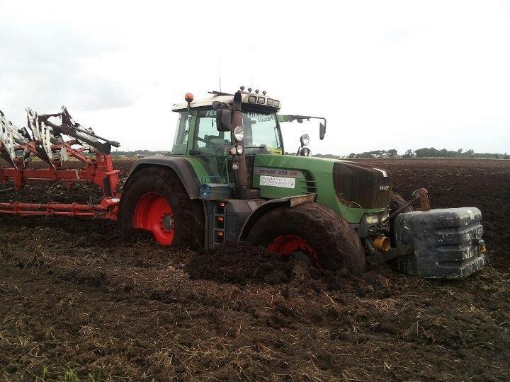
<path fill-rule="evenodd" d="M 205 217 L 200 201 L 192 200 L 174 171 L 148 167 L 131 175 L 120 199 L 120 225 L 151 231 L 163 245 L 203 247 Z"/>

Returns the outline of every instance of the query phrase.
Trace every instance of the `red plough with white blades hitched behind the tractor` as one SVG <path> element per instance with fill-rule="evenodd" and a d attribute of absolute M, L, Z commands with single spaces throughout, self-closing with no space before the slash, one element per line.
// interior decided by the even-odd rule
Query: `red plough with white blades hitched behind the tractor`
<path fill-rule="evenodd" d="M 0 183 L 11 184 L 16 190 L 30 181 L 95 183 L 102 188 L 103 198 L 98 204 L 0 203 L 0 214 L 97 216 L 117 220 L 119 170 L 113 168 L 110 152 L 111 146 L 120 144 L 74 122 L 64 107 L 57 114 L 38 115 L 30 109 L 27 114 L 27 127 L 18 129 L 0 111 L 0 157 L 11 165 L 0 167 Z M 51 122 L 50 118 L 60 119 L 61 124 Z M 30 167 L 34 157 L 47 167 Z M 81 166 L 64 168 L 64 162 L 71 161 L 80 162 Z"/>

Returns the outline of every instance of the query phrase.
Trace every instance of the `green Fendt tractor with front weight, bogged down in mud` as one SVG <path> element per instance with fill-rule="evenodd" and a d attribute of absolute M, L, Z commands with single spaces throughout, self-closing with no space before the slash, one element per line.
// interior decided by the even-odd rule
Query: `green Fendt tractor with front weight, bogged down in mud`
<path fill-rule="evenodd" d="M 280 115 L 266 92 L 210 92 L 174 105 L 171 156 L 137 160 L 123 187 L 119 221 L 163 245 L 211 248 L 249 241 L 283 258 L 363 272 L 392 261 L 419 277 L 462 278 L 485 263 L 475 207 L 430 209 L 426 190 L 407 203 L 380 168 L 310 156 L 307 134 L 284 155 Z M 324 139 L 326 120 L 319 123 Z M 421 202 L 421 211 L 411 203 Z"/>

